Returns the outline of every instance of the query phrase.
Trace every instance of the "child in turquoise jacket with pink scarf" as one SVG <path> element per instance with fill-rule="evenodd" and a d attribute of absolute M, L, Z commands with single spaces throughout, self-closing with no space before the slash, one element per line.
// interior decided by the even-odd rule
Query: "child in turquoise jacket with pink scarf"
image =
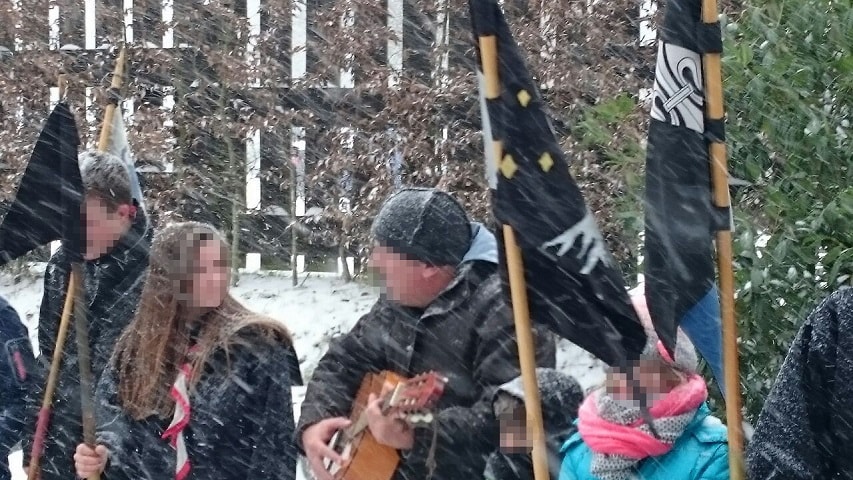
<path fill-rule="evenodd" d="M 648 342 L 633 377 L 645 392 L 654 430 L 627 375 L 607 371 L 603 388 L 578 411 L 578 431 L 563 445 L 560 480 L 727 480 L 728 435 L 706 404 L 698 356 L 678 330 L 670 356 L 655 334 L 643 297 L 633 297 Z"/>

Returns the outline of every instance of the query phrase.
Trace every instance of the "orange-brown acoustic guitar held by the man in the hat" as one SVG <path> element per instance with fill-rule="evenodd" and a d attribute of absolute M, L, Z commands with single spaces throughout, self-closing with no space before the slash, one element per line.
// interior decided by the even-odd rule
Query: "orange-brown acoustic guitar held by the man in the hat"
<path fill-rule="evenodd" d="M 343 465 L 326 462 L 326 470 L 335 480 L 390 480 L 400 463 L 396 449 L 379 443 L 367 424 L 367 399 L 371 393 L 381 395 L 383 387 L 393 387 L 382 397 L 382 413 L 406 421 L 412 427 L 428 426 L 433 421 L 431 409 L 444 393 L 447 378 L 435 372 L 405 379 L 393 372 L 369 373 L 353 402 L 349 427 L 332 437 L 330 447 L 345 459 Z"/>

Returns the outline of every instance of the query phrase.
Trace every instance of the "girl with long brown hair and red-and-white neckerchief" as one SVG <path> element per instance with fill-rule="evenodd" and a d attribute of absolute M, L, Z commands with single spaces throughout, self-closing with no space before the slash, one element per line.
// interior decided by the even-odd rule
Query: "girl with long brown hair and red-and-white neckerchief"
<path fill-rule="evenodd" d="M 290 334 L 228 293 L 228 248 L 186 222 L 154 239 L 138 311 L 98 385 L 98 442 L 77 474 L 293 479 Z"/>

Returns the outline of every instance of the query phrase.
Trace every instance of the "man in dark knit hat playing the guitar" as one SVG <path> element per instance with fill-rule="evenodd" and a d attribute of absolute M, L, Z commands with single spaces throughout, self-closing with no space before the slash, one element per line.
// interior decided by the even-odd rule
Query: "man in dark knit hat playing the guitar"
<path fill-rule="evenodd" d="M 428 428 L 411 428 L 368 402 L 370 432 L 400 452 L 395 480 L 481 477 L 497 449 L 492 399 L 517 377 L 515 325 L 498 275 L 497 242 L 471 223 L 449 194 L 405 188 L 382 206 L 372 226 L 371 266 L 383 293 L 371 311 L 332 342 L 308 383 L 296 440 L 318 480 L 331 480 L 328 447 L 349 424 L 353 400 L 367 373 L 403 377 L 428 371 L 448 383 Z M 538 365 L 553 367 L 555 345 L 537 335 Z"/>

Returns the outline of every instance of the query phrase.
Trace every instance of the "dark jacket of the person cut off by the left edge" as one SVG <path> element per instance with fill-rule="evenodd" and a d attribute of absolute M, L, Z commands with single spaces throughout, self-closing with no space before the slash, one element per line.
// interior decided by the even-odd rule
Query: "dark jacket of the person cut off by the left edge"
<path fill-rule="evenodd" d="M 6 457 L 21 440 L 35 358 L 18 312 L 0 297 L 0 480 L 11 479 Z"/>

